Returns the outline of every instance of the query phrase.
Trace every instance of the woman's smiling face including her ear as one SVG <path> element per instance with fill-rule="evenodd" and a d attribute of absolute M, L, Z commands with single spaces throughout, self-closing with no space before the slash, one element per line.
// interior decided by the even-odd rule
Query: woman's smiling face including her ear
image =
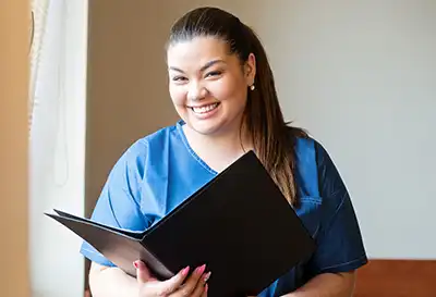
<path fill-rule="evenodd" d="M 228 45 L 215 37 L 196 37 L 171 45 L 167 52 L 169 91 L 180 117 L 207 135 L 239 129 L 255 60 L 242 66 Z"/>

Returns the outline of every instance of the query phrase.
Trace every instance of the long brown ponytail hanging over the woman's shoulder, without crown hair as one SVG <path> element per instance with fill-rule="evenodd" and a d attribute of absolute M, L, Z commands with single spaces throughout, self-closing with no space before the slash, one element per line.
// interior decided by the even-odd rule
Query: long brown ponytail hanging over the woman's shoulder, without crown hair
<path fill-rule="evenodd" d="M 280 109 L 274 74 L 257 35 L 243 25 L 256 57 L 255 89 L 249 92 L 245 108 L 246 126 L 257 157 L 290 203 L 298 203 L 295 185 L 296 137 L 306 137 L 303 129 L 288 126 Z"/>

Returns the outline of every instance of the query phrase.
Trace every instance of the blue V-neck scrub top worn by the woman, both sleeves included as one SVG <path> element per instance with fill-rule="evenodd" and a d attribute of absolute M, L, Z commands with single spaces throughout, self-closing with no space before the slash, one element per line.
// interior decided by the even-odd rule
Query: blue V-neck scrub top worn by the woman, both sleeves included
<path fill-rule="evenodd" d="M 218 174 L 190 147 L 182 125 L 180 121 L 159 129 L 122 154 L 109 174 L 92 220 L 144 231 Z M 299 138 L 295 150 L 301 197 L 295 211 L 315 238 L 317 250 L 259 297 L 288 294 L 316 274 L 352 271 L 367 262 L 348 190 L 327 151 L 311 138 Z M 265 213 L 263 220 L 268 215 L 274 213 Z M 90 261 L 113 267 L 87 243 L 83 243 L 81 252 Z"/>

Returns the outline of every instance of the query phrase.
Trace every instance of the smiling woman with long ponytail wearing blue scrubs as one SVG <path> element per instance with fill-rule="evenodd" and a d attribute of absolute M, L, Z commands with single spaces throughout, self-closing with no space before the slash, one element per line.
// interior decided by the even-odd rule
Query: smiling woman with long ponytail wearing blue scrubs
<path fill-rule="evenodd" d="M 143 231 L 253 149 L 318 245 L 310 261 L 261 296 L 351 296 L 354 271 L 367 260 L 350 197 L 323 147 L 284 123 L 254 32 L 222 10 L 193 10 L 171 28 L 167 63 L 181 120 L 124 152 L 93 220 Z M 207 296 L 210 272 L 205 267 L 158 282 L 136 261 L 134 280 L 86 243 L 82 252 L 93 262 L 94 297 Z"/>

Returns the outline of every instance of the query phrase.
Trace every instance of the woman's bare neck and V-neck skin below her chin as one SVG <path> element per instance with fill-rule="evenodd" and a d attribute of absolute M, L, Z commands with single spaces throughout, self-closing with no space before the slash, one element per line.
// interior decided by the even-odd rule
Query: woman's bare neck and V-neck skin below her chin
<path fill-rule="evenodd" d="M 199 134 L 187 125 L 183 125 L 183 131 L 195 153 L 217 172 L 222 171 L 246 151 L 253 149 L 253 141 L 243 128 L 214 135 Z"/>

